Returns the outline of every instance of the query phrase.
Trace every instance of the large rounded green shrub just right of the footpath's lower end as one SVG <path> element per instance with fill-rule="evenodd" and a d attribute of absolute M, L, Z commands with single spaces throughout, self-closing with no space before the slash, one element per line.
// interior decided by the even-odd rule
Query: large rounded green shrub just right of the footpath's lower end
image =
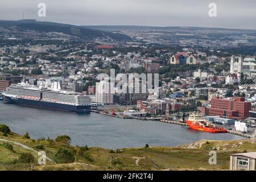
<path fill-rule="evenodd" d="M 60 148 L 55 154 L 54 160 L 58 164 L 73 163 L 75 162 L 75 156 L 73 155 L 73 152 L 65 148 Z"/>

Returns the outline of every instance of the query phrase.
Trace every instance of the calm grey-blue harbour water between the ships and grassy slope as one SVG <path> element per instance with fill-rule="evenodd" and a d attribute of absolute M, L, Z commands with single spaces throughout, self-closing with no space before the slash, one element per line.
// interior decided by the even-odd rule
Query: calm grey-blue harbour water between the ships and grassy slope
<path fill-rule="evenodd" d="M 26 131 L 31 138 L 69 135 L 73 145 L 104 148 L 177 146 L 200 139 L 245 139 L 232 134 L 193 131 L 188 127 L 159 121 L 121 119 L 91 113 L 80 115 L 46 109 L 5 104 L 0 101 L 0 123 L 18 134 Z"/>

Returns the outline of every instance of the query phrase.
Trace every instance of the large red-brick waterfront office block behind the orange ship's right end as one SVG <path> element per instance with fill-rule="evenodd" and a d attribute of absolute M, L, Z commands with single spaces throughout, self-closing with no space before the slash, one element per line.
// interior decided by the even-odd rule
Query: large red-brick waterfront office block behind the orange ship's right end
<path fill-rule="evenodd" d="M 233 97 L 231 100 L 217 97 L 210 101 L 210 105 L 209 115 L 230 119 L 245 119 L 251 110 L 251 102 L 246 102 L 243 97 Z"/>

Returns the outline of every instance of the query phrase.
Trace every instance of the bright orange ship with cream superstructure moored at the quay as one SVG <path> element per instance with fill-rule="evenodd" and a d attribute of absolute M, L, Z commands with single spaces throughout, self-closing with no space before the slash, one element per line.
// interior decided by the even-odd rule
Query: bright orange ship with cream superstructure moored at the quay
<path fill-rule="evenodd" d="M 226 133 L 226 129 L 222 127 L 216 127 L 209 121 L 207 121 L 203 115 L 192 114 L 189 115 L 188 120 L 186 121 L 189 128 L 193 130 L 206 131 L 210 133 Z"/>

